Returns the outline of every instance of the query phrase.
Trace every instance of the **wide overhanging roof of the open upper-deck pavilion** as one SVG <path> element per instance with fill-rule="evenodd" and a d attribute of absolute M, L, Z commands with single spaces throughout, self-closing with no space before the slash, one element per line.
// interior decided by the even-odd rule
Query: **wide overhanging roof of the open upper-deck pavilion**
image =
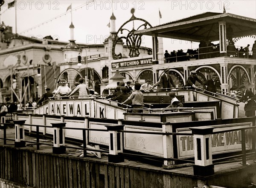
<path fill-rule="evenodd" d="M 233 30 L 233 38 L 256 35 L 256 19 L 230 13 L 206 12 L 135 32 L 140 35 L 158 33 L 159 37 L 199 42 L 219 40 L 219 22 Z"/>

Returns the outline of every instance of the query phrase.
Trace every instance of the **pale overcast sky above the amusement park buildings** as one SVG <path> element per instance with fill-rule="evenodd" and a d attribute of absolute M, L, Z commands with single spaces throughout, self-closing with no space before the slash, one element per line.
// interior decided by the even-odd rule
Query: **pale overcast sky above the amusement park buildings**
<path fill-rule="evenodd" d="M 5 0 L 1 7 L 0 20 L 13 27 L 15 32 L 15 9 L 8 9 Z M 102 44 L 109 35 L 107 24 L 112 11 L 116 16 L 116 31 L 131 17 L 131 8 L 135 8 L 135 16 L 147 20 L 152 26 L 159 25 L 159 10 L 162 18 L 160 23 L 168 23 L 185 17 L 204 12 L 223 12 L 223 5 L 227 13 L 238 14 L 256 19 L 256 0 L 18 0 L 17 1 L 17 33 L 28 37 L 38 38 L 51 35 L 53 38 L 68 41 L 70 39 L 71 14 L 67 7 L 72 3 L 73 25 L 75 26 L 75 40 L 79 43 Z M 75 10 L 76 7 L 77 8 Z M 67 14 L 65 14 L 67 13 Z M 59 15 L 63 14 L 61 17 Z M 56 19 L 53 19 L 55 18 Z M 52 20 L 53 19 L 53 20 Z M 47 20 L 52 20 L 46 23 Z M 41 23 L 44 23 L 41 25 Z M 39 25 L 39 26 L 38 26 Z M 236 45 L 251 46 L 255 39 L 244 38 Z M 142 46 L 152 47 L 151 38 L 143 40 Z M 197 48 L 198 44 L 191 44 L 179 40 L 163 40 L 164 49 Z"/>

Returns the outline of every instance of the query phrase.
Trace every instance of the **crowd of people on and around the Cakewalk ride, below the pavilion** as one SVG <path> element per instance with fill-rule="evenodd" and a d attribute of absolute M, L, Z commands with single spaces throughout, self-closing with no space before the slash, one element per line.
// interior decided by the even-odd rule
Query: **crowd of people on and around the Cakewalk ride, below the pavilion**
<path fill-rule="evenodd" d="M 221 83 L 219 77 L 216 73 L 212 75 L 212 78 L 208 79 L 207 81 L 203 82 L 200 78 L 197 77 L 196 71 L 192 70 L 191 75 L 187 78 L 186 84 L 184 85 L 183 89 L 197 89 L 195 86 L 196 81 L 198 81 L 201 85 L 203 85 L 204 93 L 209 95 L 214 95 L 218 89 L 220 89 Z M 115 90 L 111 91 L 111 95 L 105 97 L 107 100 L 117 101 L 119 107 L 127 107 L 132 106 L 134 113 L 141 113 L 143 110 L 143 92 L 151 92 L 151 91 L 170 91 L 172 88 L 177 89 L 175 82 L 172 80 L 171 75 L 169 74 L 169 69 L 166 68 L 163 71 L 163 75 L 161 75 L 159 81 L 154 85 L 151 85 L 151 80 L 146 80 L 145 84 L 140 84 L 138 81 L 135 81 L 134 86 L 131 87 L 131 82 L 128 81 L 125 85 L 124 82 L 117 82 L 117 86 Z M 241 91 L 240 95 L 241 98 L 237 100 L 237 102 L 245 102 L 245 115 L 246 116 L 253 116 L 252 112 L 252 105 L 253 102 L 256 101 L 256 96 L 250 90 L 247 90 L 244 85 L 241 85 L 239 88 L 231 88 L 237 92 L 237 90 Z M 67 81 L 62 79 L 59 82 L 59 87 L 54 93 L 54 95 L 50 92 L 50 88 L 46 88 L 46 93 L 38 100 L 37 103 L 31 103 L 30 101 L 27 102 L 25 105 L 25 109 L 32 109 L 35 106 L 39 106 L 45 104 L 50 98 L 54 98 L 59 96 L 60 99 L 67 99 L 67 98 L 88 98 L 88 94 L 90 91 L 87 89 L 86 85 L 84 84 L 84 78 L 79 78 L 78 82 L 74 83 L 72 89 L 67 86 Z M 169 93 L 171 98 L 171 104 L 169 107 L 182 107 L 182 104 L 177 100 L 175 97 L 175 92 L 171 91 Z M 237 96 L 237 95 L 235 95 Z M 18 105 L 15 103 L 10 103 L 10 99 L 6 98 L 6 104 L 0 104 L 0 116 L 6 116 L 7 113 L 13 113 L 19 109 Z"/>

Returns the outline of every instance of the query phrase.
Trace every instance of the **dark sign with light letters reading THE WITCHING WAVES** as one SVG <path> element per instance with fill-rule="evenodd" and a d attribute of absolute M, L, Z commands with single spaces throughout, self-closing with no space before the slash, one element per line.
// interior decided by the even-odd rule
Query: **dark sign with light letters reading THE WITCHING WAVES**
<path fill-rule="evenodd" d="M 114 68 L 134 67 L 134 66 L 149 65 L 149 64 L 152 64 L 152 58 L 112 63 L 111 67 L 112 67 L 112 69 L 114 69 Z"/>

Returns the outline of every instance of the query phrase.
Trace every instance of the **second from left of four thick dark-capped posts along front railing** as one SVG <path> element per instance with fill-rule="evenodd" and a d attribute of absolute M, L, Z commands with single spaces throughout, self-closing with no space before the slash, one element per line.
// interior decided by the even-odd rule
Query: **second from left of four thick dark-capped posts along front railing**
<path fill-rule="evenodd" d="M 52 153 L 62 154 L 66 152 L 65 148 L 65 134 L 62 127 L 66 126 L 66 123 L 51 123 L 53 127 L 53 147 Z"/>

